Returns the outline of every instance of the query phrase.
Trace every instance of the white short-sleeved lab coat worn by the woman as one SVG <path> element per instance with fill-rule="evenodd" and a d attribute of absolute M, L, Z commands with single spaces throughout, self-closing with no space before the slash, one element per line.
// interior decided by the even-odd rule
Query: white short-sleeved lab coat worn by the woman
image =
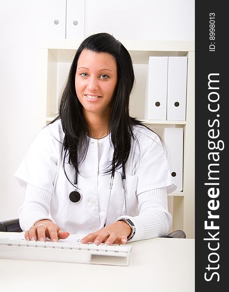
<path fill-rule="evenodd" d="M 168 194 L 176 189 L 158 136 L 141 126 L 134 126 L 134 134 L 138 139 L 140 152 L 134 141 L 126 163 L 126 201 L 129 216 L 139 214 L 138 194 L 165 186 Z M 61 162 L 63 137 L 60 120 L 43 128 L 32 141 L 15 176 L 23 187 L 29 183 L 52 193 L 50 214 L 62 230 L 88 234 L 104 224 L 111 175 L 104 175 L 103 170 L 108 161 L 112 161 L 114 149 L 110 144 L 110 135 L 101 140 L 90 138 L 87 156 L 79 167 L 78 188 L 82 198 L 73 203 L 69 200 L 69 194 L 74 187 L 67 180 Z M 100 151 L 98 155 L 98 147 L 101 146 L 102 153 Z M 74 183 L 75 169 L 65 164 L 65 170 Z M 122 168 L 115 172 L 107 225 L 125 215 L 121 173 Z"/>

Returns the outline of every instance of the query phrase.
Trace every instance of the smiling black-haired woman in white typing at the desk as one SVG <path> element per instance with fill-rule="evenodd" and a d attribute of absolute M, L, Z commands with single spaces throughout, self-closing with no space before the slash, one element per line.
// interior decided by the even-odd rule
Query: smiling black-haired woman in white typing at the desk
<path fill-rule="evenodd" d="M 129 116 L 131 57 L 106 33 L 73 60 L 59 115 L 30 145 L 15 176 L 26 187 L 19 222 L 30 240 L 70 233 L 82 243 L 162 237 L 176 188 L 159 137 Z"/>

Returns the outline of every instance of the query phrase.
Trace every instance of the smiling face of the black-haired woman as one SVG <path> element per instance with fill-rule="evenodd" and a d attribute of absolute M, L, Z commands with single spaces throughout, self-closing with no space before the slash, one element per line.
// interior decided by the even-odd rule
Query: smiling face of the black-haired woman
<path fill-rule="evenodd" d="M 115 58 L 108 53 L 83 50 L 78 58 L 75 87 L 84 116 L 110 115 L 117 84 Z"/>

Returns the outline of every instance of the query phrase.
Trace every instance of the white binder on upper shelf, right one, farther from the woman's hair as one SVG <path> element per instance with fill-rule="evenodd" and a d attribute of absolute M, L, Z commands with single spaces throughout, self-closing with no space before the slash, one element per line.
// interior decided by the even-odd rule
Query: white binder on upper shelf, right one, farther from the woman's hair
<path fill-rule="evenodd" d="M 167 120 L 186 120 L 187 57 L 169 57 Z"/>

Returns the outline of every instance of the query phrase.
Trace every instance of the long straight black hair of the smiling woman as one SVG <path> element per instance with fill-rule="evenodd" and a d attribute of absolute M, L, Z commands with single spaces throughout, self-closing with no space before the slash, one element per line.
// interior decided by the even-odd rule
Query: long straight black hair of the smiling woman
<path fill-rule="evenodd" d="M 108 126 L 108 131 L 111 132 L 114 156 L 113 163 L 110 164 L 110 168 L 105 172 L 112 171 L 114 173 L 116 169 L 126 163 L 129 157 L 132 139 L 136 139 L 132 129 L 133 125 L 146 126 L 129 115 L 130 94 L 135 81 L 131 56 L 115 37 L 107 33 L 99 33 L 87 37 L 77 49 L 65 89 L 59 101 L 58 116 L 52 122 L 54 123 L 56 120 L 61 119 L 65 133 L 62 146 L 63 167 L 68 157 L 68 163 L 72 164 L 79 173 L 78 166 L 85 159 L 89 145 L 87 134 L 90 133 L 90 128 L 83 116 L 82 105 L 77 98 L 75 88 L 77 62 L 83 50 L 108 53 L 115 58 L 117 84 L 113 95 Z"/>

